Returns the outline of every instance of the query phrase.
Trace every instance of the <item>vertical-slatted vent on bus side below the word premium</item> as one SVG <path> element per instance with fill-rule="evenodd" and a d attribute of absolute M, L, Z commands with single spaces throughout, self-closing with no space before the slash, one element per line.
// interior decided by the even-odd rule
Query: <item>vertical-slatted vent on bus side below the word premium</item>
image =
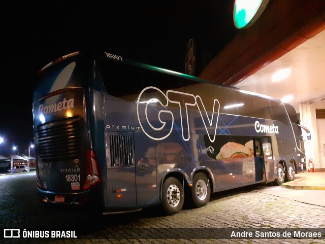
<path fill-rule="evenodd" d="M 110 135 L 111 166 L 133 165 L 132 137 Z"/>

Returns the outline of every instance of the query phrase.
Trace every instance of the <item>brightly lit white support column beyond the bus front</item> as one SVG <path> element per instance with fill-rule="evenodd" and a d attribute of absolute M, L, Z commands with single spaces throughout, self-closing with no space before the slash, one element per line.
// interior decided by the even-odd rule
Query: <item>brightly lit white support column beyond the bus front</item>
<path fill-rule="evenodd" d="M 317 135 L 317 123 L 316 123 L 316 109 L 315 104 L 312 102 L 300 103 L 300 119 L 301 124 L 307 127 L 311 133 L 311 140 L 305 142 L 305 153 L 307 164 L 309 159 L 312 158 L 314 162 L 314 168 L 320 168 L 319 150 L 318 150 L 318 135 Z M 307 165 L 309 169 L 309 165 Z"/>

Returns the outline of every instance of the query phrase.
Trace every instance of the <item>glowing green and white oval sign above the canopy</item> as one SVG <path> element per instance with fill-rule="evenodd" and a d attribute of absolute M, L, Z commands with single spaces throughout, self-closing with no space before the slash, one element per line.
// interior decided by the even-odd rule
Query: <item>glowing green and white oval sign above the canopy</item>
<path fill-rule="evenodd" d="M 251 26 L 262 15 L 269 0 L 235 0 L 233 19 L 236 28 Z"/>

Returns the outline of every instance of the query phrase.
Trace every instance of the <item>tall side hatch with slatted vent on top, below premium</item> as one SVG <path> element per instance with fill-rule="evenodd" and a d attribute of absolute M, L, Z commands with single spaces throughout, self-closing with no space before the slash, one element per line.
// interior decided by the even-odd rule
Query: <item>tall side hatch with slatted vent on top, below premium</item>
<path fill-rule="evenodd" d="M 134 209 L 136 169 L 133 132 L 105 132 L 108 210 Z"/>

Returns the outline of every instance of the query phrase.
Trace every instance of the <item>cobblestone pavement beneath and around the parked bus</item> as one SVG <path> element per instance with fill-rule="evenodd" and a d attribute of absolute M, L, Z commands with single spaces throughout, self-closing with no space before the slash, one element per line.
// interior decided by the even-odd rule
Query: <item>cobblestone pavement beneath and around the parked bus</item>
<path fill-rule="evenodd" d="M 256 228 L 257 231 L 270 230 L 271 234 L 294 230 L 288 228 L 307 228 L 306 231 L 322 228 L 320 233 L 325 235 L 325 207 L 258 192 L 256 187 L 213 194 L 206 206 L 185 207 L 174 216 L 163 215 L 159 207 L 128 214 L 102 215 L 89 210 L 45 205 L 38 198 L 35 173 L 0 176 L 0 192 L 0 228 L 77 229 L 78 236 L 75 239 L 0 239 L 0 243 L 6 244 L 325 243 L 325 239 L 319 238 L 282 238 L 282 232 L 278 238 L 255 238 L 256 235 L 232 238 L 233 230 L 255 234 Z M 320 193 L 324 191 L 315 191 L 315 194 Z M 221 239 L 215 239 L 216 234 Z"/>

